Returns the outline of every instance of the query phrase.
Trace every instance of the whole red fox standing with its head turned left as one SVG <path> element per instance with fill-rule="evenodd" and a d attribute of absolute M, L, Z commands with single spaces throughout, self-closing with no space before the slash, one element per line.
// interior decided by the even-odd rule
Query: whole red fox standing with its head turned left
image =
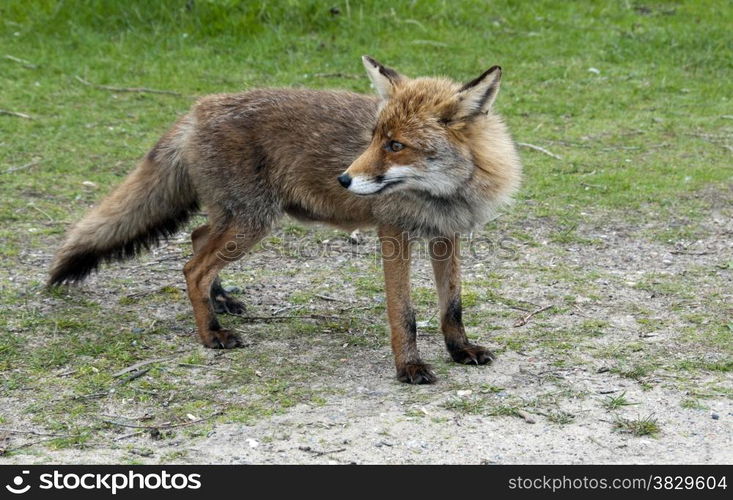
<path fill-rule="evenodd" d="M 458 363 L 493 355 L 462 322 L 459 235 L 485 223 L 521 178 L 514 142 L 492 111 L 501 68 L 457 84 L 407 78 L 363 58 L 377 96 L 260 89 L 200 99 L 122 184 L 69 232 L 49 285 L 83 280 L 173 234 L 200 205 L 183 267 L 201 342 L 241 345 L 217 312 L 244 306 L 218 273 L 283 214 L 346 230 L 376 226 L 397 378 L 432 383 L 410 302 L 410 239 L 429 238 L 446 347 Z M 439 250 L 438 250 L 439 247 Z"/>

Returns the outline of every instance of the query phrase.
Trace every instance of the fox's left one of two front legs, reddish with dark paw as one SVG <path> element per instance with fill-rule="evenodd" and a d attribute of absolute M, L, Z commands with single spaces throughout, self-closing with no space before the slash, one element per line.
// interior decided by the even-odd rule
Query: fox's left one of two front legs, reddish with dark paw
<path fill-rule="evenodd" d="M 379 240 L 397 378 L 409 384 L 431 384 L 435 375 L 417 351 L 417 324 L 410 301 L 409 236 L 396 228 L 380 227 Z"/>

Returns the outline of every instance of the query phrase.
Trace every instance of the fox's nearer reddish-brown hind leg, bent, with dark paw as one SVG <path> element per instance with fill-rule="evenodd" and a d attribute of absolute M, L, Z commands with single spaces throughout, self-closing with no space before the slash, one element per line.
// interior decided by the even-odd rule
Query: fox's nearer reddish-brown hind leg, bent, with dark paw
<path fill-rule="evenodd" d="M 216 232 L 210 230 L 205 243 L 183 267 L 199 338 L 206 347 L 214 349 L 230 349 L 242 344 L 234 332 L 219 324 L 211 301 L 212 285 L 219 271 L 242 257 L 266 233 L 238 229 L 231 225 Z"/>

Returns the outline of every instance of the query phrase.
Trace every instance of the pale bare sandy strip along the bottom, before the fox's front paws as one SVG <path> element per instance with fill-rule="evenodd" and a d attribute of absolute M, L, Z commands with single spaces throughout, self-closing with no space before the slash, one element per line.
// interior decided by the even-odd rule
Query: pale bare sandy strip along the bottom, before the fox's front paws
<path fill-rule="evenodd" d="M 389 363 L 379 363 L 387 368 Z M 364 366 L 364 365 L 362 365 Z M 487 380 L 532 395 L 550 389 L 543 382 L 542 362 L 519 355 L 502 356 L 490 369 L 454 371 L 466 386 Z M 487 373 L 491 370 L 491 373 Z M 285 415 L 256 425 L 219 424 L 206 437 L 177 438 L 151 445 L 147 436 L 128 440 L 154 450 L 137 460 L 157 463 L 156 457 L 185 451 L 179 463 L 217 464 L 523 464 L 523 463 L 731 463 L 733 404 L 715 401 L 710 410 L 680 408 L 679 392 L 643 391 L 634 382 L 620 382 L 587 371 L 560 373 L 575 388 L 594 393 L 582 401 L 566 401 L 572 424 L 556 425 L 540 415 L 535 423 L 516 417 L 456 416 L 432 401 L 406 402 L 405 389 L 377 375 L 366 385 L 349 382 L 347 395 L 322 407 L 299 405 Z M 371 373 L 366 373 L 371 372 Z M 383 372 L 383 371 L 382 371 Z M 411 387 L 431 400 L 441 387 Z M 635 437 L 613 431 L 612 417 L 600 407 L 601 392 L 626 391 L 642 402 L 634 413 L 660 417 L 663 435 Z M 430 392 L 434 391 L 434 392 Z M 459 397 L 459 396 L 455 396 Z M 464 396 L 466 397 L 466 396 Z M 470 396 L 468 396 L 470 397 Z M 410 415 L 406 416 L 408 410 Z M 719 418 L 714 420 L 711 414 Z M 443 417 L 436 419 L 435 417 Z M 436 421 L 437 420 L 437 421 Z M 128 443 L 129 444 L 129 443 Z M 119 463 L 129 460 L 126 446 L 59 450 L 39 455 L 19 454 L 4 463 Z"/>

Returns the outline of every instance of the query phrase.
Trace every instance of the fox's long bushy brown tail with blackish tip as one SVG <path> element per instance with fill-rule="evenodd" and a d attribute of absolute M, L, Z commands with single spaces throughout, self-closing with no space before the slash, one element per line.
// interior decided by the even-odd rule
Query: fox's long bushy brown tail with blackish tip
<path fill-rule="evenodd" d="M 49 285 L 81 281 L 100 263 L 128 259 L 175 233 L 198 208 L 181 162 L 179 123 L 99 206 L 79 221 L 58 250 Z"/>

